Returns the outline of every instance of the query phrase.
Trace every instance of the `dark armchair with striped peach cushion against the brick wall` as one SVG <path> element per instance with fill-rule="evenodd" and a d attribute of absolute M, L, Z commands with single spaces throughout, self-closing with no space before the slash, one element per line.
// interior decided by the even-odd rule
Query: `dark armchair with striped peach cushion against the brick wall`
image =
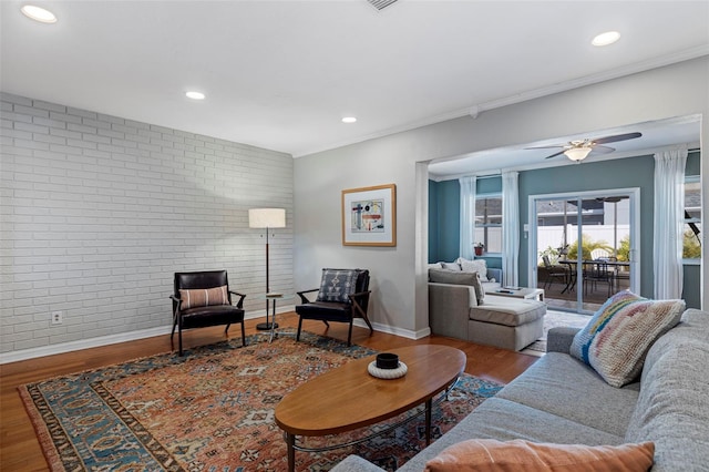
<path fill-rule="evenodd" d="M 236 306 L 232 304 L 232 295 L 240 297 Z M 245 297 L 244 294 L 229 290 L 226 270 L 175 273 L 175 293 L 169 296 L 173 300 L 173 331 L 169 340 L 172 342 L 177 328 L 179 356 L 183 355 L 183 329 L 226 325 L 226 334 L 233 322 L 240 322 L 242 346 L 246 346 L 243 308 Z"/>

